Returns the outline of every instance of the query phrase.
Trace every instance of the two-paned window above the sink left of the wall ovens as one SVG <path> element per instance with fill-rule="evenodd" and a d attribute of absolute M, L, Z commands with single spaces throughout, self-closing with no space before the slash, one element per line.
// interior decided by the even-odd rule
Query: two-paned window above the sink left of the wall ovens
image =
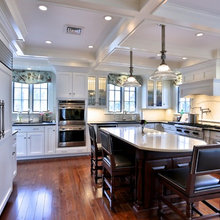
<path fill-rule="evenodd" d="M 41 112 L 48 110 L 48 84 L 13 83 L 13 111 Z"/>

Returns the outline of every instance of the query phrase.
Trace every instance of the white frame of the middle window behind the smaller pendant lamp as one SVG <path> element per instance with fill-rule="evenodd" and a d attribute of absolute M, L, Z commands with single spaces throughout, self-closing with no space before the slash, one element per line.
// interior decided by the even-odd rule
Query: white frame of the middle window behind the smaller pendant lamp
<path fill-rule="evenodd" d="M 125 112 L 125 88 L 124 87 L 120 87 L 120 96 L 121 96 L 121 101 L 120 101 L 121 109 L 120 109 L 120 111 L 110 111 L 109 110 L 109 102 L 110 102 L 110 100 L 109 100 L 109 92 L 110 92 L 109 85 L 110 84 L 107 84 L 107 109 L 108 109 L 108 113 L 116 114 L 116 113 Z M 129 114 L 137 112 L 137 97 L 138 97 L 137 92 L 138 92 L 138 89 L 136 87 L 134 87 L 134 88 L 135 88 L 135 91 L 134 91 L 135 92 L 135 110 L 134 111 L 126 111 Z M 129 91 L 129 94 L 130 94 L 130 91 Z M 129 95 L 129 103 L 130 103 L 130 95 Z"/>

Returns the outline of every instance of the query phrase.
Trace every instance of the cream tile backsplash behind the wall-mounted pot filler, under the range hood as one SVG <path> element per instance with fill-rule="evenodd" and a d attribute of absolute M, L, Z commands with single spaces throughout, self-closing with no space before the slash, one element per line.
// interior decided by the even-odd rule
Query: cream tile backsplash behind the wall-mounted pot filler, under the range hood
<path fill-rule="evenodd" d="M 199 120 L 220 121 L 220 96 L 195 95 L 191 104 L 192 113 L 199 114 Z M 211 112 L 201 114 L 200 108 Z"/>

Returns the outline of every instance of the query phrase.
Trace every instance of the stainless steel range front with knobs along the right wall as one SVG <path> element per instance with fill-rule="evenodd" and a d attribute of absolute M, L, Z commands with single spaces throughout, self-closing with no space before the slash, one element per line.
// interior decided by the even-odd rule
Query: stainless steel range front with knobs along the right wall
<path fill-rule="evenodd" d="M 193 125 L 178 125 L 175 124 L 176 127 L 176 134 L 203 139 L 203 128 L 197 127 Z"/>

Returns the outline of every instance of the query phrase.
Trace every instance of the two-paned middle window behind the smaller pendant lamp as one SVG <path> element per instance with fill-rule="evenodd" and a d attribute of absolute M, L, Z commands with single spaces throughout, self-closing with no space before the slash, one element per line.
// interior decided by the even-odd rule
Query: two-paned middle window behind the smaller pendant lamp
<path fill-rule="evenodd" d="M 136 88 L 108 85 L 108 111 L 109 112 L 135 112 Z"/>

